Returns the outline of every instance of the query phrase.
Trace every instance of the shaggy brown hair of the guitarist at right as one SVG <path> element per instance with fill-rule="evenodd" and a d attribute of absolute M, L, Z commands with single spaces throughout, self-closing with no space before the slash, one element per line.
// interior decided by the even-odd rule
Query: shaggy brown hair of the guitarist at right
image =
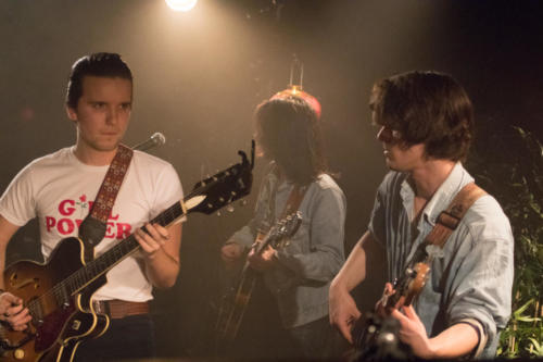
<path fill-rule="evenodd" d="M 450 75 L 407 72 L 374 85 L 369 108 L 377 123 L 400 132 L 401 146 L 424 143 L 426 155 L 463 161 L 473 136 L 473 108 Z"/>

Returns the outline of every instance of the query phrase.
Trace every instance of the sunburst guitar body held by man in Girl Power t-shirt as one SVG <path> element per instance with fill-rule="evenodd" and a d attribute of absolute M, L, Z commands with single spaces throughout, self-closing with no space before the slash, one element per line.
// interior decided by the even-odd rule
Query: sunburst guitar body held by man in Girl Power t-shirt
<path fill-rule="evenodd" d="M 109 325 L 108 316 L 94 313 L 92 294 L 105 283 L 101 276 L 83 294 L 71 296 L 61 282 L 85 265 L 83 242 L 60 241 L 46 264 L 20 261 L 4 272 L 5 290 L 34 304 L 26 330 L 5 328 L 3 361 L 72 361 L 83 338 L 98 337 Z M 61 287 L 59 287 L 61 286 Z"/>

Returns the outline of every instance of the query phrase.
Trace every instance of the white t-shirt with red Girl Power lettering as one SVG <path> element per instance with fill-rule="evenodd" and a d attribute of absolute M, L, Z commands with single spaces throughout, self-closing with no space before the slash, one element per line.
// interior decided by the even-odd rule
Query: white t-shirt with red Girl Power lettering
<path fill-rule="evenodd" d="M 47 260 L 61 239 L 78 235 L 78 225 L 89 213 L 108 168 L 81 163 L 74 147 L 37 159 L 8 186 L 0 198 L 0 214 L 18 226 L 37 216 L 41 251 Z M 128 237 L 181 198 L 181 184 L 174 167 L 135 151 L 96 254 Z M 96 300 L 152 299 L 152 286 L 138 255 L 127 257 L 108 272 L 108 284 L 94 294 Z"/>

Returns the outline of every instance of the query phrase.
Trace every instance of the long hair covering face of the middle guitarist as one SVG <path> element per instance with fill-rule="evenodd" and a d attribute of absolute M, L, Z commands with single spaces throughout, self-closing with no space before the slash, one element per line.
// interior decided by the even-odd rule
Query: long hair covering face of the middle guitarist
<path fill-rule="evenodd" d="M 303 186 L 327 172 L 320 124 L 306 101 L 299 97 L 267 100 L 256 108 L 255 122 L 264 153 L 288 179 Z"/>

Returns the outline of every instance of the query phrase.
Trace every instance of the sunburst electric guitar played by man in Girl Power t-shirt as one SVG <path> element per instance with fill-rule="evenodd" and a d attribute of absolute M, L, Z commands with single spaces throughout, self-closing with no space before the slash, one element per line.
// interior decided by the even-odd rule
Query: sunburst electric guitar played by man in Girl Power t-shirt
<path fill-rule="evenodd" d="M 249 162 L 244 152 L 238 153 L 240 163 L 197 183 L 151 223 L 168 226 L 191 212 L 211 214 L 249 195 L 254 158 Z M 106 283 L 105 273 L 139 248 L 130 235 L 86 263 L 83 241 L 71 237 L 59 242 L 45 264 L 20 261 L 9 266 L 4 288 L 24 300 L 33 320 L 24 332 L 4 323 L 0 360 L 72 361 L 80 341 L 101 336 L 109 326 L 108 316 L 92 309 L 92 295 Z"/>

